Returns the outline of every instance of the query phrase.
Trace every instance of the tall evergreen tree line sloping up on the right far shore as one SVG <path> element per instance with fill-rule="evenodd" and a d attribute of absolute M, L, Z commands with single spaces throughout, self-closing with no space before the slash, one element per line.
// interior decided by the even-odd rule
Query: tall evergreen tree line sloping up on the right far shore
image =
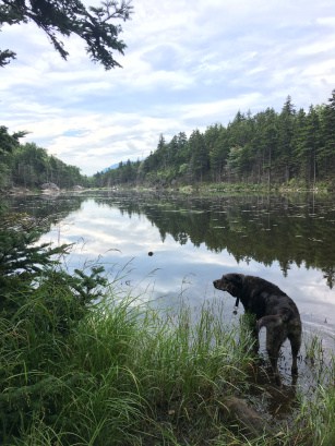
<path fill-rule="evenodd" d="M 157 147 L 144 160 L 120 162 L 98 172 L 95 183 L 156 184 L 243 182 L 283 184 L 297 181 L 308 186 L 334 183 L 335 89 L 326 105 L 296 110 L 290 96 L 280 112 L 274 108 L 252 114 L 238 111 L 227 126 L 215 123 L 195 129 Z"/>

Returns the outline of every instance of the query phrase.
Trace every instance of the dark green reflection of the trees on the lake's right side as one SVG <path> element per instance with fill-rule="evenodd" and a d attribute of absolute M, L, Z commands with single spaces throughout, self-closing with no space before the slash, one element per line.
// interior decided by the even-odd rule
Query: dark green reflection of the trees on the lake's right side
<path fill-rule="evenodd" d="M 101 200 L 100 200 L 101 201 Z M 145 214 L 159 230 L 178 243 L 205 243 L 227 252 L 237 262 L 278 262 L 287 276 L 292 264 L 321 269 L 330 288 L 335 284 L 333 246 L 335 215 L 332 201 L 315 196 L 237 196 L 183 198 L 179 196 L 122 195 L 104 201 L 122 213 Z"/>

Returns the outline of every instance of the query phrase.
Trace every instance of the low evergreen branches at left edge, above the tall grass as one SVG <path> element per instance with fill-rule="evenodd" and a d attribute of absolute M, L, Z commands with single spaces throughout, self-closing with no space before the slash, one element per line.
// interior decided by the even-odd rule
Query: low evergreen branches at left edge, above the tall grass
<path fill-rule="evenodd" d="M 38 221 L 25 214 L 2 216 L 0 311 L 4 317 L 11 318 L 21 311 L 26 300 L 35 296 L 35 292 L 44 296 L 47 310 L 49 304 L 55 310 L 55 304 L 61 302 L 59 298 L 71 297 L 75 299 L 79 308 L 84 309 L 100 296 L 97 287 L 105 285 L 101 267 L 92 268 L 89 276 L 81 270 L 75 270 L 71 276 L 62 269 L 56 269 L 60 256 L 64 255 L 70 246 L 51 248 L 49 243 L 38 244 L 37 241 L 47 225 L 47 221 Z M 48 301 L 49 296 L 52 297 L 52 302 Z M 55 296 L 57 299 L 53 299 Z M 57 313 L 56 310 L 53 312 Z M 79 315 L 74 314 L 71 318 L 79 318 Z"/>

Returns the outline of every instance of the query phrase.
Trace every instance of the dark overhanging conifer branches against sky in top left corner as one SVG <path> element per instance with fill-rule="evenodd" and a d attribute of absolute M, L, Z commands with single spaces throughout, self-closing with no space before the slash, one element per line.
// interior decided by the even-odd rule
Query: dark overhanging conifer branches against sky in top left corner
<path fill-rule="evenodd" d="M 75 34 L 85 41 L 93 62 L 109 70 L 121 67 L 112 51 L 123 55 L 125 48 L 119 39 L 121 26 L 111 21 L 129 20 L 132 9 L 131 0 L 103 1 L 99 8 L 85 8 L 80 0 L 1 0 L 0 29 L 3 24 L 33 22 L 47 34 L 56 51 L 65 60 L 69 52 L 60 37 Z M 0 67 L 12 59 L 15 59 L 13 51 L 0 50 Z"/>

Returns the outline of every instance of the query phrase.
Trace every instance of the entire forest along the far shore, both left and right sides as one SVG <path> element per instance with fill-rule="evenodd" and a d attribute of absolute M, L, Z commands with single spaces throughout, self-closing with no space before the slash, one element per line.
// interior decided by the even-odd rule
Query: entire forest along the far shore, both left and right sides
<path fill-rule="evenodd" d="M 335 189 L 335 89 L 327 104 L 296 110 L 290 96 L 282 110 L 252 114 L 238 111 L 226 126 L 179 132 L 169 142 L 159 135 L 143 160 L 121 161 L 116 169 L 83 176 L 35 143 L 21 143 L 25 132 L 0 126 L 0 190 L 35 189 L 53 182 L 61 189 L 116 185 L 244 183 L 268 188 L 299 184 Z M 108 160 L 106 160 L 108 165 Z"/>

